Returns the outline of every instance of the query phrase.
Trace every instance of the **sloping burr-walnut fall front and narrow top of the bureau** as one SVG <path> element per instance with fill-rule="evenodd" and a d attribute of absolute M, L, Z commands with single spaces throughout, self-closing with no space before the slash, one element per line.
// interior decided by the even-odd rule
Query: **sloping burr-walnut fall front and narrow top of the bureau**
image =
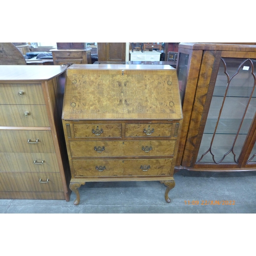
<path fill-rule="evenodd" d="M 182 119 L 176 70 L 168 65 L 72 65 L 62 118 Z"/>

